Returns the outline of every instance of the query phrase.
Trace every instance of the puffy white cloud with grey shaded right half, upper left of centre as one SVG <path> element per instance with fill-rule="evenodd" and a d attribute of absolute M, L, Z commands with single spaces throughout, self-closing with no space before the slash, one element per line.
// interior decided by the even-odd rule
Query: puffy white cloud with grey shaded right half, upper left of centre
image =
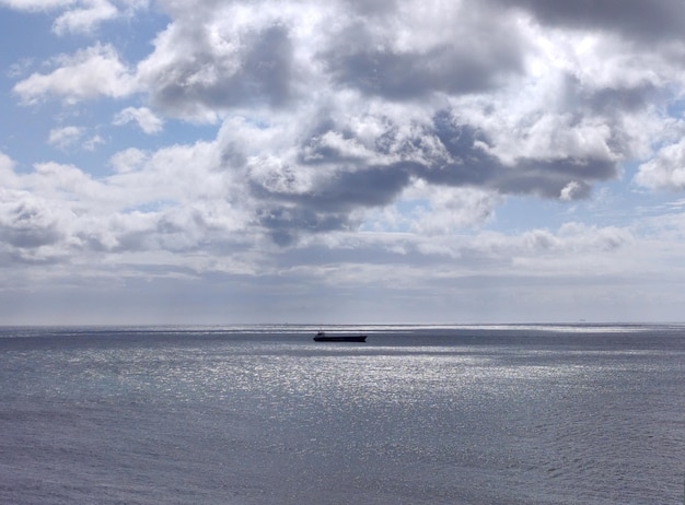
<path fill-rule="evenodd" d="M 290 98 L 292 42 L 287 26 L 235 21 L 231 8 L 179 19 L 138 67 L 152 103 L 166 114 L 213 121 L 236 106 L 281 107 Z M 239 17 L 240 20 L 240 17 Z"/>

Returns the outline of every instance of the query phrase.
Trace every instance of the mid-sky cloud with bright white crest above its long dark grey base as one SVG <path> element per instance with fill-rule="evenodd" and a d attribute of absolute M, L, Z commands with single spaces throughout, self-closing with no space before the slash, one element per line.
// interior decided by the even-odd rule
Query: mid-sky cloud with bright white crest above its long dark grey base
<path fill-rule="evenodd" d="M 265 157 L 269 145 L 262 143 L 263 155 L 247 161 L 252 193 L 265 208 L 278 209 L 277 214 L 266 212 L 262 223 L 281 234 L 287 225 L 291 232 L 299 226 L 310 232 L 355 226 L 355 210 L 388 205 L 416 181 L 577 199 L 588 195 L 593 180 L 615 175 L 611 160 L 564 151 L 556 153 L 565 156 L 557 160 L 503 163 L 488 153 L 483 133 L 456 121 L 449 111 L 410 128 L 390 118 L 374 128 L 329 118 L 313 130 L 294 131 L 310 139 L 294 155 L 275 152 Z"/>

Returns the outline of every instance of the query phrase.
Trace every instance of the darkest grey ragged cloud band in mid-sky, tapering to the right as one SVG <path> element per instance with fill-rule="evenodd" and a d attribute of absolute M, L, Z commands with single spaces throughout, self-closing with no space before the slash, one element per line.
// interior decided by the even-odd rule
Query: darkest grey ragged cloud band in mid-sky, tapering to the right
<path fill-rule="evenodd" d="M 355 139 L 350 128 L 338 128 L 346 139 Z M 330 131 L 336 131 L 334 121 L 322 122 L 314 128 L 313 139 Z M 314 140 L 303 143 L 301 149 L 307 150 L 312 142 L 315 143 Z M 276 243 L 290 245 L 302 232 L 321 233 L 358 225 L 352 221 L 355 210 L 388 205 L 417 179 L 434 186 L 569 200 L 587 198 L 592 183 L 617 175 L 616 163 L 592 155 L 582 158 L 559 155 L 554 160 L 519 157 L 506 165 L 487 152 L 486 146 L 491 142 L 479 129 L 460 124 L 449 110 L 437 114 L 431 125 L 417 128 L 411 138 L 400 138 L 397 128 L 388 122 L 387 130 L 376 139 L 375 144 L 382 146 L 376 154 L 384 151 L 388 157 L 402 161 L 367 164 L 360 158 L 351 164 L 342 151 L 322 148 L 312 164 L 321 166 L 326 175 L 315 178 L 314 187 L 306 192 L 297 190 L 295 179 L 281 189 L 252 180 L 252 195 L 263 205 L 258 224 Z M 441 149 L 426 150 L 425 145 Z M 307 152 L 311 154 L 311 150 Z M 306 157 L 300 156 L 300 162 L 306 164 Z M 285 169 L 282 177 L 291 177 L 288 172 L 291 169 Z"/>

